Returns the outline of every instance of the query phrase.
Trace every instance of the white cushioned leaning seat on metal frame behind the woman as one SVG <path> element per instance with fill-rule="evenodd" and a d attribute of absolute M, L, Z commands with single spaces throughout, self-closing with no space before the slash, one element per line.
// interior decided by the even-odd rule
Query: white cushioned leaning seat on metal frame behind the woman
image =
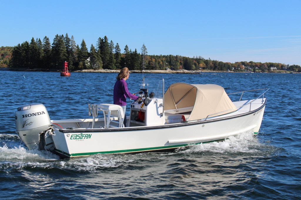
<path fill-rule="evenodd" d="M 98 111 L 103 111 L 104 113 L 104 126 L 105 128 L 110 127 L 123 127 L 123 122 L 121 121 L 124 118 L 123 109 L 120 105 L 115 104 L 95 104 L 97 105 Z M 118 121 L 114 120 L 114 117 L 118 117 Z M 112 126 L 110 123 L 117 123 L 118 126 Z"/>

